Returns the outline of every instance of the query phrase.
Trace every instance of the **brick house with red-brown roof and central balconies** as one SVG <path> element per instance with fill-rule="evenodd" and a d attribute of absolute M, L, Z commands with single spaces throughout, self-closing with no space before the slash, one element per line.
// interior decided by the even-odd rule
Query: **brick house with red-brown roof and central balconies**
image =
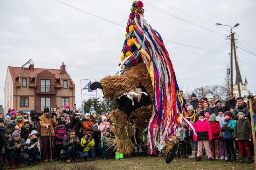
<path fill-rule="evenodd" d="M 75 84 L 66 72 L 66 65 L 62 63 L 60 69 L 34 68 L 32 60 L 25 63 L 28 68 L 7 68 L 4 88 L 4 112 L 8 108 L 16 111 L 37 110 L 43 113 L 45 107 L 51 111 L 58 107 L 64 107 L 69 103 L 70 107 L 75 103 Z"/>

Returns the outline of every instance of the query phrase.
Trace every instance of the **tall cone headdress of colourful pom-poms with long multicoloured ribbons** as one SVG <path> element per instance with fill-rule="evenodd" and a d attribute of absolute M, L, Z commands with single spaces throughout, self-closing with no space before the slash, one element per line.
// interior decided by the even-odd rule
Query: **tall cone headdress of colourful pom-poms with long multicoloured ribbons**
<path fill-rule="evenodd" d="M 183 126 L 193 125 L 185 118 L 183 100 L 175 77 L 175 72 L 169 54 L 160 34 L 143 18 L 143 3 L 133 2 L 126 27 L 123 55 L 121 57 L 121 73 L 143 58 L 152 80 L 154 89 L 153 115 L 147 129 L 150 153 L 153 147 L 162 150 L 172 135 L 184 137 Z"/>

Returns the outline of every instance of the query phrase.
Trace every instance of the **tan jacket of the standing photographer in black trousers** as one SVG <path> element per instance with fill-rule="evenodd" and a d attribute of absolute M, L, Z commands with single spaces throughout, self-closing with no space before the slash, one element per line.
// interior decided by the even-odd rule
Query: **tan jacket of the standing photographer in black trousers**
<path fill-rule="evenodd" d="M 44 114 L 40 117 L 40 126 L 41 126 L 41 137 L 43 136 L 49 136 L 48 129 L 46 128 L 46 125 L 51 125 L 51 135 L 54 136 L 54 127 L 57 126 L 57 122 L 55 118 L 46 117 Z"/>

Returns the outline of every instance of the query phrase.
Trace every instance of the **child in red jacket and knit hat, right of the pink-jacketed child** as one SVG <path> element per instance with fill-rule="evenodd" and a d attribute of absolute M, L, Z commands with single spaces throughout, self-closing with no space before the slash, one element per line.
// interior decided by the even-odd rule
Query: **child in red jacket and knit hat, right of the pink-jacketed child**
<path fill-rule="evenodd" d="M 210 141 L 210 149 L 212 152 L 212 156 L 215 157 L 216 160 L 219 160 L 219 132 L 221 131 L 221 126 L 219 122 L 216 120 L 216 115 L 214 113 L 210 116 L 210 125 L 212 127 L 212 141 Z M 215 156 L 214 156 L 215 155 Z"/>

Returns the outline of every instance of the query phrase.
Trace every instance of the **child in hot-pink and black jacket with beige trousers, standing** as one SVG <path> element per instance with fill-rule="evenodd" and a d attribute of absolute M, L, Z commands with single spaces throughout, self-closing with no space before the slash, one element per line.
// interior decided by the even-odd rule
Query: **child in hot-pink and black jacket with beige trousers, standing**
<path fill-rule="evenodd" d="M 194 140 L 197 141 L 197 161 L 201 160 L 203 154 L 203 145 L 205 148 L 205 153 L 209 160 L 214 160 L 212 158 L 212 153 L 210 149 L 209 141 L 212 140 L 212 128 L 209 122 L 205 120 L 204 112 L 198 114 L 199 120 L 195 123 L 195 133 Z"/>

